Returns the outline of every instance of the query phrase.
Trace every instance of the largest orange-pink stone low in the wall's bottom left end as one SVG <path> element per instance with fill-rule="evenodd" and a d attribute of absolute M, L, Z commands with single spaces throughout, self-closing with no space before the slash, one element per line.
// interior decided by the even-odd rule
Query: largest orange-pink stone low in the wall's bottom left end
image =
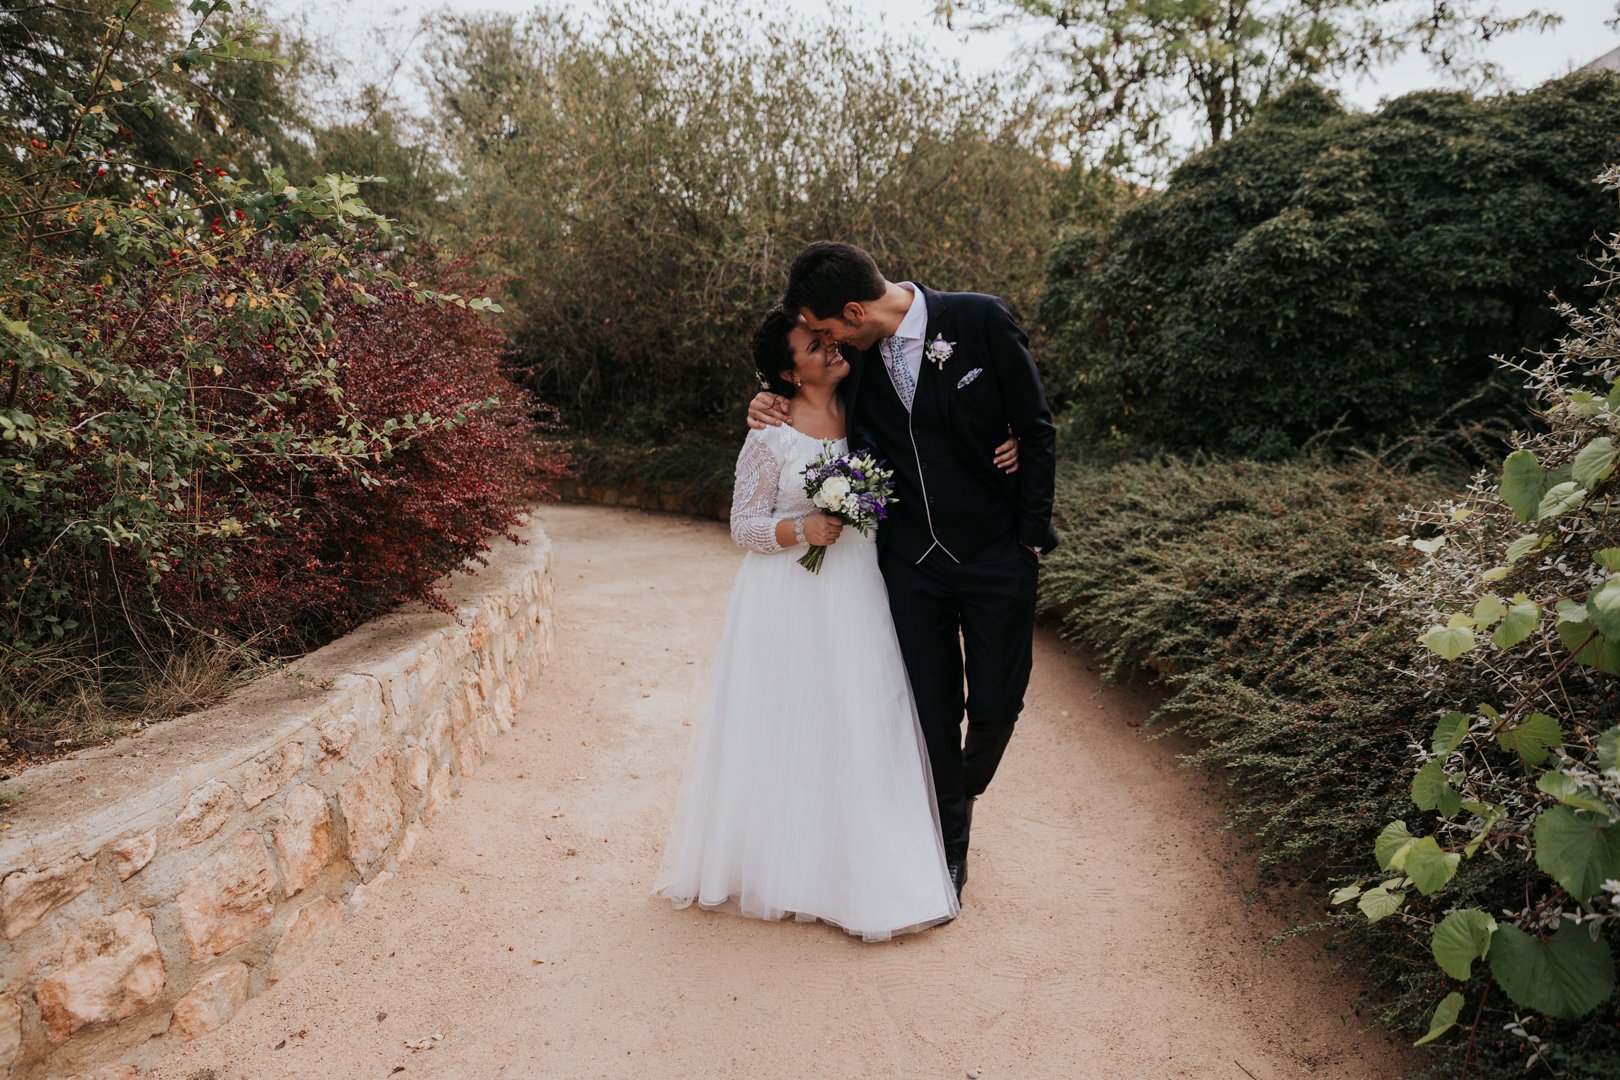
<path fill-rule="evenodd" d="M 89 1023 L 141 1012 L 164 991 L 164 957 L 152 920 L 125 908 L 86 920 L 68 939 L 62 963 L 34 989 L 45 1035 L 65 1043 Z"/>

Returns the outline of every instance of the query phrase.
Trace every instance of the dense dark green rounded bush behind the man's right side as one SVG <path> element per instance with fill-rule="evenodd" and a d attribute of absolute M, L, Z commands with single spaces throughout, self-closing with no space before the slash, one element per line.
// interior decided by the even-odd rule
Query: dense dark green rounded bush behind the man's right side
<path fill-rule="evenodd" d="M 1354 115 L 1294 87 L 1051 256 L 1055 397 L 1097 440 L 1254 458 L 1518 424 L 1490 356 L 1550 345 L 1547 290 L 1620 228 L 1591 185 L 1617 138 L 1607 74 Z"/>

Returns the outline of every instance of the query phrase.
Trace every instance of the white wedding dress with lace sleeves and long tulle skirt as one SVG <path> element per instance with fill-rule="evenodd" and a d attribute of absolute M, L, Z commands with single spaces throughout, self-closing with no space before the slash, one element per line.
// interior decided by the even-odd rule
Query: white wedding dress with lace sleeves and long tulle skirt
<path fill-rule="evenodd" d="M 770 427 L 737 458 L 731 534 L 748 554 L 654 892 L 886 941 L 957 904 L 876 544 L 846 528 L 820 575 L 804 544 L 776 544 L 779 518 L 813 510 L 804 470 L 826 445 Z"/>

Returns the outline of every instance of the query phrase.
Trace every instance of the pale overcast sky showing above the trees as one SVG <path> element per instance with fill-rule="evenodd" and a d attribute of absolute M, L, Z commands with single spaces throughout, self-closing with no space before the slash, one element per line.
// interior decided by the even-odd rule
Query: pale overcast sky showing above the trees
<path fill-rule="evenodd" d="M 666 0 L 685 8 L 698 8 L 703 0 Z M 1620 45 L 1620 34 L 1604 23 L 1615 15 L 1617 0 L 1505 0 L 1503 11 L 1521 13 L 1531 8 L 1557 11 L 1563 24 L 1545 34 L 1515 34 L 1494 42 L 1486 55 L 1508 73 L 1515 86 L 1526 87 L 1549 78 L 1565 74 L 1573 68 L 1596 60 Z M 530 11 L 539 5 L 535 0 L 266 0 L 274 13 L 292 11 L 305 16 L 311 31 L 342 49 L 363 78 L 376 78 L 379 58 L 387 53 L 376 44 L 379 31 L 397 47 L 407 40 L 405 28 L 413 28 L 423 15 L 455 10 L 471 11 Z M 561 6 L 582 10 L 580 0 L 564 0 Z M 932 0 L 862 0 L 862 18 L 876 18 L 896 37 L 915 36 L 933 45 L 941 55 L 957 60 L 967 71 L 998 71 L 1022 66 L 1038 40 L 1038 24 L 1009 28 L 993 32 L 949 31 L 933 18 Z M 774 0 L 776 11 L 826 19 L 833 10 L 829 0 Z M 389 32 L 392 28 L 392 32 Z M 1371 79 L 1346 84 L 1349 104 L 1372 107 L 1383 97 L 1396 97 L 1408 91 L 1442 84 L 1421 57 L 1408 57 L 1396 65 L 1375 73 Z M 410 100 L 415 94 L 397 87 Z"/>

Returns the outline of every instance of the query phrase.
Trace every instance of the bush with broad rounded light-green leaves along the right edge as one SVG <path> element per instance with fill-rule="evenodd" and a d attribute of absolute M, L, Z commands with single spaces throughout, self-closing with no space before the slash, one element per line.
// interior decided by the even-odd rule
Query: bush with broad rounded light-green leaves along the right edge
<path fill-rule="evenodd" d="M 1620 188 L 1620 168 L 1604 181 Z M 1430 730 L 1413 732 L 1411 803 L 1379 834 L 1375 871 L 1335 894 L 1432 941 L 1450 978 L 1429 1038 L 1477 1044 L 1518 1014 L 1555 1017 L 1516 1023 L 1531 1064 L 1565 1075 L 1599 1075 L 1568 1043 L 1620 1015 L 1620 238 L 1597 270 L 1609 295 L 1562 308 L 1557 351 L 1508 368 L 1541 434 L 1408 515 L 1422 559 L 1385 578 L 1385 607 L 1418 643 L 1401 670 Z"/>

